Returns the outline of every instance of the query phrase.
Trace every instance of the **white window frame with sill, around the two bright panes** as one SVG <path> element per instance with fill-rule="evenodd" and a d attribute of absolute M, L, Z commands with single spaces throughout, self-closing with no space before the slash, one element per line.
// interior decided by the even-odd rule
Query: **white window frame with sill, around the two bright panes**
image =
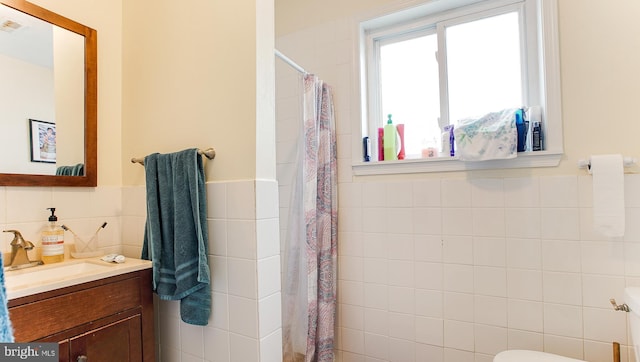
<path fill-rule="evenodd" d="M 390 9 L 360 21 L 358 27 L 358 45 L 360 56 L 360 117 L 361 132 L 354 135 L 354 154 L 352 170 L 355 175 L 420 173 L 439 171 L 461 171 L 474 169 L 506 169 L 529 167 L 552 167 L 560 163 L 563 154 L 562 118 L 560 99 L 560 61 L 558 42 L 557 0 L 449 0 L 427 3 L 410 8 Z M 448 6 L 448 7 L 444 7 Z M 481 162 L 465 162 L 457 157 L 436 157 L 424 159 L 405 159 L 398 161 L 362 160 L 362 140 L 369 136 L 373 143 L 376 140 L 377 123 L 384 120 L 372 119 L 370 115 L 381 117 L 380 90 L 377 74 L 377 49 L 372 46 L 374 40 L 409 39 L 417 34 L 438 33 L 438 42 L 444 42 L 445 26 L 464 23 L 465 18 L 481 19 L 499 15 L 518 9 L 520 14 L 521 41 L 524 46 L 521 59 L 525 67 L 523 71 L 523 97 L 531 105 L 540 105 L 543 113 L 543 130 L 545 150 L 520 152 L 518 157 L 509 160 L 490 160 Z M 444 44 L 439 44 L 444 49 Z M 446 53 L 446 52 L 445 52 Z M 438 53 L 439 67 L 446 67 L 446 54 Z M 377 68 L 376 68 L 377 67 Z M 377 70 L 377 71 L 376 71 Z M 445 73 L 446 74 L 446 73 Z M 440 75 L 443 75 L 440 70 Z M 537 80 L 532 82 L 531 80 Z M 445 89 L 442 84 L 445 83 Z M 441 82 L 441 124 L 448 124 L 446 82 Z M 526 93 L 525 93 L 526 92 Z M 445 114 L 446 112 L 446 114 Z M 354 122 L 355 122 L 354 121 Z M 357 148 L 356 148 L 357 145 Z M 355 150 L 358 150 L 355 152 Z"/>

